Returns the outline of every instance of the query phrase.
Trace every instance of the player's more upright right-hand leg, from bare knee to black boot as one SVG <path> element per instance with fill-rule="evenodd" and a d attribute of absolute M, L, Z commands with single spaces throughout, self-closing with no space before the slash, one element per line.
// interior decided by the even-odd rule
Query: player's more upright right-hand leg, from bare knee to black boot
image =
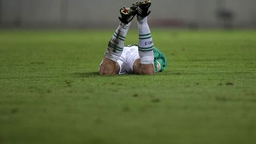
<path fill-rule="evenodd" d="M 153 65 L 153 40 L 151 30 L 148 25 L 148 12 L 151 1 L 144 1 L 137 8 L 137 24 L 139 28 L 139 56 L 140 63 L 135 66 L 133 71 L 137 74 L 150 75 L 155 73 Z"/>

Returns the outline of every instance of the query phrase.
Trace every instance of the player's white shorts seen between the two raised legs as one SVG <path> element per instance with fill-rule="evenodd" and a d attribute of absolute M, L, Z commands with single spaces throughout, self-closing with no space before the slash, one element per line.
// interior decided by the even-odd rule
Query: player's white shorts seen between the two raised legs
<path fill-rule="evenodd" d="M 137 46 L 124 47 L 123 53 L 117 60 L 120 71 L 119 74 L 133 74 L 133 63 L 139 59 L 139 50 Z"/>

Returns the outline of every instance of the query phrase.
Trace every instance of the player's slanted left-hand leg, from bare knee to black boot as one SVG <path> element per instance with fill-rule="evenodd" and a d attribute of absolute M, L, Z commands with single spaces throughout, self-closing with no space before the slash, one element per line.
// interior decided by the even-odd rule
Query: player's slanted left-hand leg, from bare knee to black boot
<path fill-rule="evenodd" d="M 126 34 L 130 27 L 130 21 L 135 17 L 136 11 L 123 7 L 120 9 L 120 14 L 121 17 L 119 17 L 119 19 L 121 23 L 108 43 L 103 63 L 100 66 L 101 75 L 115 75 L 119 73 L 120 68 L 117 60 L 123 52 L 124 40 L 126 39 Z"/>

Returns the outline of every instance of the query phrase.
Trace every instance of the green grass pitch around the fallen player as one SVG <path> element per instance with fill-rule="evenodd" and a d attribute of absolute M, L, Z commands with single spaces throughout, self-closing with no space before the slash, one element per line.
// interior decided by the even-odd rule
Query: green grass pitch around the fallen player
<path fill-rule="evenodd" d="M 113 31 L 1 30 L 0 143 L 255 142 L 255 30 L 152 29 L 166 71 L 99 76 Z"/>

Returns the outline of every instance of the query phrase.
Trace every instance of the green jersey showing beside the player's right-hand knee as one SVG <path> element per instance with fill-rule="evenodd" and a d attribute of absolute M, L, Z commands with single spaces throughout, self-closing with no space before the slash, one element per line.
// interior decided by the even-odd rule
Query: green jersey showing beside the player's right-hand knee
<path fill-rule="evenodd" d="M 154 47 L 153 49 L 154 53 L 154 65 L 155 65 L 155 72 L 158 72 L 158 63 L 160 64 L 161 68 L 159 72 L 164 71 L 164 69 L 167 67 L 167 58 L 158 48 Z"/>

